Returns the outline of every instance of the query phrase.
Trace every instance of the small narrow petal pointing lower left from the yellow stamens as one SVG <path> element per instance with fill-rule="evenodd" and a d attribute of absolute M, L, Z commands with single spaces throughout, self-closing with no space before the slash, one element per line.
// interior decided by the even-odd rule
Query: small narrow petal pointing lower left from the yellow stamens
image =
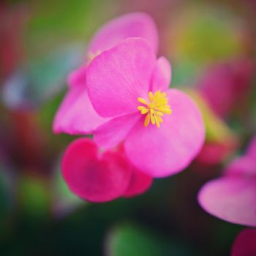
<path fill-rule="evenodd" d="M 102 148 L 113 148 L 127 137 L 140 118 L 140 113 L 113 118 L 94 131 L 94 140 Z"/>

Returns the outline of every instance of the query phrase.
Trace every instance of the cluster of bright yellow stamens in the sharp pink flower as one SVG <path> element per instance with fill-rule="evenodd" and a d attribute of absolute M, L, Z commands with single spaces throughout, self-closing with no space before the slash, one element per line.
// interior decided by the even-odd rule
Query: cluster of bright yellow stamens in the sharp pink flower
<path fill-rule="evenodd" d="M 144 106 L 138 106 L 138 110 L 143 115 L 146 115 L 144 126 L 147 127 L 148 124 L 157 124 L 157 127 L 160 127 L 162 124 L 162 116 L 164 114 L 170 115 L 172 110 L 170 105 L 168 105 L 168 98 L 166 97 L 165 92 L 156 91 L 154 94 L 152 91 L 148 92 L 148 99 L 138 97 L 138 102 L 142 103 Z"/>

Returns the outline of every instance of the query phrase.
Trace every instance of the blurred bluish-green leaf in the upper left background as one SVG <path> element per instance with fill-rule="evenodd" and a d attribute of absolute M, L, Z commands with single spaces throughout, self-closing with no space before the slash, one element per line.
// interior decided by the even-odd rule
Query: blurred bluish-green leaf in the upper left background
<path fill-rule="evenodd" d="M 83 62 L 78 45 L 61 47 L 16 70 L 4 84 L 2 99 L 12 109 L 37 107 L 66 86 L 67 75 Z"/>

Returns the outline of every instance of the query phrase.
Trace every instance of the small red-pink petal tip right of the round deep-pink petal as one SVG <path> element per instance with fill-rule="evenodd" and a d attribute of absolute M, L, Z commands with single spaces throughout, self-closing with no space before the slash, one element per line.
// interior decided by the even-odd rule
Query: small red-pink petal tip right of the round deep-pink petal
<path fill-rule="evenodd" d="M 136 168 L 132 169 L 132 178 L 129 181 L 129 187 L 124 192 L 124 197 L 134 197 L 146 192 L 152 185 L 153 178 L 141 173 Z"/>

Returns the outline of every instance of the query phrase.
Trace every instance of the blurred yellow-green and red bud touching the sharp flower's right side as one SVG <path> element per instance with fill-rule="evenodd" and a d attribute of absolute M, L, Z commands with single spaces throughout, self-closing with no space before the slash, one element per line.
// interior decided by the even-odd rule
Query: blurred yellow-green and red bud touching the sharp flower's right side
<path fill-rule="evenodd" d="M 197 102 L 206 124 L 206 142 L 197 156 L 197 162 L 203 165 L 219 164 L 238 147 L 237 135 L 212 110 L 201 91 L 189 89 L 187 93 Z"/>

